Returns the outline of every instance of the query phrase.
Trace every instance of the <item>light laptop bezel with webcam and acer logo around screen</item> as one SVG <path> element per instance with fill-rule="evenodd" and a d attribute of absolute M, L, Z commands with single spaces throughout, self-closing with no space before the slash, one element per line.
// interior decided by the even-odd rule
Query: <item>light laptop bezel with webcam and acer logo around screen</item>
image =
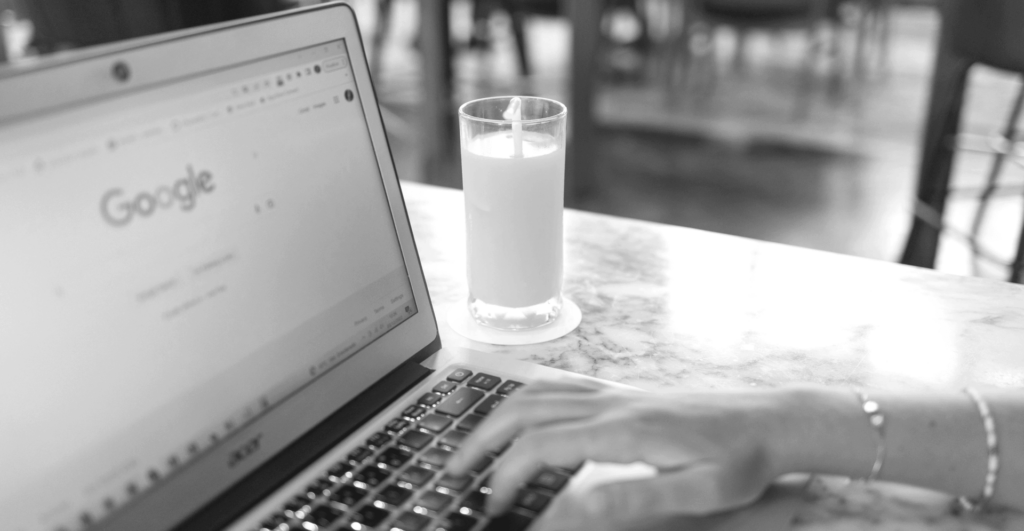
<path fill-rule="evenodd" d="M 439 349 L 436 320 L 351 7 L 339 2 L 322 4 L 71 52 L 0 70 L 0 101 L 22 103 L 16 107 L 0 108 L 0 127 L 3 127 L 239 64 L 273 51 L 300 49 L 340 39 L 345 39 L 348 47 L 418 312 L 346 361 L 343 370 L 325 372 L 288 401 L 162 479 L 153 490 L 144 491 L 110 515 L 99 515 L 99 529 L 160 531 L 173 528 L 385 374 L 406 362 L 419 362 Z M 197 50 L 209 52 L 197 54 Z M 117 62 L 132 69 L 129 80 L 118 80 L 110 75 Z M 241 463 L 230 466 L 231 453 L 253 440 L 260 441 L 258 450 Z"/>

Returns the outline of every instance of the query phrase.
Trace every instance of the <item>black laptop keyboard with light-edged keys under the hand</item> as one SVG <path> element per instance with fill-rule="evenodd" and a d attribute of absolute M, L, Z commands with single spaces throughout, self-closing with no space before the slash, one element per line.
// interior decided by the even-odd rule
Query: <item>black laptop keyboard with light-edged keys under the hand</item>
<path fill-rule="evenodd" d="M 464 368 L 410 404 L 345 459 L 266 519 L 259 531 L 521 531 L 544 511 L 572 472 L 541 470 L 520 490 L 515 507 L 483 514 L 496 457 L 465 477 L 444 472 L 470 432 L 523 384 Z"/>

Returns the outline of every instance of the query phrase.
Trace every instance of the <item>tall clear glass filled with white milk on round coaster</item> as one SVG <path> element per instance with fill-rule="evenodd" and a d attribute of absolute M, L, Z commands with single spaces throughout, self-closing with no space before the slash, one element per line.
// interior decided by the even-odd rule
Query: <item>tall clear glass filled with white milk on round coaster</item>
<path fill-rule="evenodd" d="M 459 108 L 469 313 L 523 330 L 562 309 L 565 105 L 531 96 Z"/>

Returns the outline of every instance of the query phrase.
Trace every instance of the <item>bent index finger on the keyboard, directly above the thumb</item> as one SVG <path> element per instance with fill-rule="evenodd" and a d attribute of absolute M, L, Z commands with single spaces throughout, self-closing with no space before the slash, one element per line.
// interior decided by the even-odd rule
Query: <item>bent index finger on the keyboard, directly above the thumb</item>
<path fill-rule="evenodd" d="M 631 432 L 618 423 L 584 419 L 549 425 L 526 432 L 505 454 L 490 476 L 487 512 L 504 513 L 519 487 L 545 466 L 574 468 L 587 459 L 605 462 L 639 460 Z"/>

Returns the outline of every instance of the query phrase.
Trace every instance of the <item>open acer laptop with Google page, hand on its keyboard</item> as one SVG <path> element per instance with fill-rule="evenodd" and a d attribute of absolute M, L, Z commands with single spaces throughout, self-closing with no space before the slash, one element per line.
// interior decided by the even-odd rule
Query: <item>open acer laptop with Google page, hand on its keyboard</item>
<path fill-rule="evenodd" d="M 444 473 L 566 373 L 441 349 L 346 5 L 0 71 L 0 248 L 4 529 L 523 529 L 624 477 L 489 521 Z"/>

